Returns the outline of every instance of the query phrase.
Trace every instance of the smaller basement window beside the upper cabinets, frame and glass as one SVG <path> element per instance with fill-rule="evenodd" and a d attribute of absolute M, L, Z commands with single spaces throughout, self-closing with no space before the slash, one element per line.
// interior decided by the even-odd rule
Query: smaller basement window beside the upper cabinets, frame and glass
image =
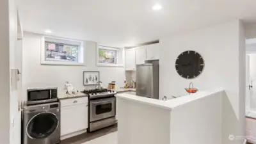
<path fill-rule="evenodd" d="M 97 66 L 123 67 L 123 49 L 116 47 L 97 47 Z"/>

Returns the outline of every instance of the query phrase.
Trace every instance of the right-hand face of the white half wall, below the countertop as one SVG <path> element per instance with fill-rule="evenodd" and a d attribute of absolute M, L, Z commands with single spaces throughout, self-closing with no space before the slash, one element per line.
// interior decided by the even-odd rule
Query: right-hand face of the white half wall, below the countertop
<path fill-rule="evenodd" d="M 221 144 L 222 97 L 225 92 L 216 92 L 173 108 L 170 144 Z"/>

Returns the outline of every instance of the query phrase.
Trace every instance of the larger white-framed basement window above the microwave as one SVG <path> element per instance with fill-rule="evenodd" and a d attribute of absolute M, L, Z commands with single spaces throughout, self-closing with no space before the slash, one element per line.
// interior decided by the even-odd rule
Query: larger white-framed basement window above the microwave
<path fill-rule="evenodd" d="M 42 38 L 41 64 L 84 65 L 84 45 L 77 40 Z"/>

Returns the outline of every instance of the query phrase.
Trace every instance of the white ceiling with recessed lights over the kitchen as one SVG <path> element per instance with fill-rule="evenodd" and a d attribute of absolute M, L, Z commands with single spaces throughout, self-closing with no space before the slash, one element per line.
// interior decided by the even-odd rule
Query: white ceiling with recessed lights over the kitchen
<path fill-rule="evenodd" d="M 162 10 L 152 10 L 154 4 Z M 131 46 L 234 19 L 256 22 L 255 0 L 19 0 L 25 31 Z"/>

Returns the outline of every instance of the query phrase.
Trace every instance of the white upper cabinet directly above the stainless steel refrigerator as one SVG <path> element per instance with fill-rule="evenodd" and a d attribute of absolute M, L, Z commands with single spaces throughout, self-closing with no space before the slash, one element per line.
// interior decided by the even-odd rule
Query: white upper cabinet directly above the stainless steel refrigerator
<path fill-rule="evenodd" d="M 159 60 L 159 44 L 145 45 L 147 60 Z"/>

